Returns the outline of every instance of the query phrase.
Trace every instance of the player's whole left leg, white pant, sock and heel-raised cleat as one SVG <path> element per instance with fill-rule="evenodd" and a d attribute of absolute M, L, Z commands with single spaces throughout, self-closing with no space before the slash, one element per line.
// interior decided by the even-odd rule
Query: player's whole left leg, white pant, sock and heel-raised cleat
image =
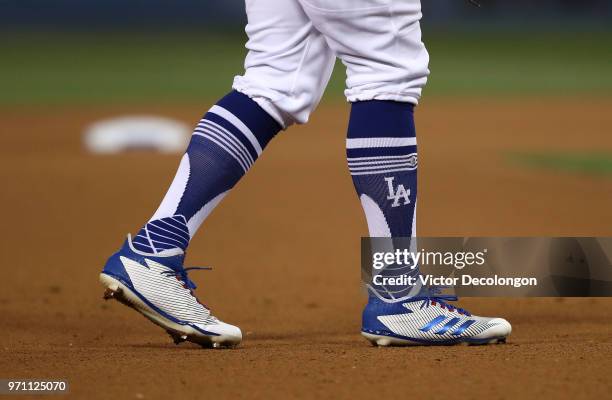
<path fill-rule="evenodd" d="M 247 14 L 244 76 L 200 120 L 161 205 L 100 275 L 106 298 L 135 308 L 177 343 L 233 346 L 242 339 L 195 298 L 185 249 L 268 142 L 308 119 L 333 67 L 333 53 L 297 0 L 248 0 Z"/>

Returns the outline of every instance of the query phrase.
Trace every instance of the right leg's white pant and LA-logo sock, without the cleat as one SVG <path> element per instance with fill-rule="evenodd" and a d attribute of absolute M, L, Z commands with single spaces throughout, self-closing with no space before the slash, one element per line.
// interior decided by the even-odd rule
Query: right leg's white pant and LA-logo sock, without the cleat
<path fill-rule="evenodd" d="M 413 108 L 427 81 L 418 0 L 301 0 L 347 68 L 352 103 L 347 158 L 370 236 L 415 236 L 417 147 Z M 418 275 L 418 269 L 395 269 Z M 384 287 L 391 299 L 418 292 Z"/>

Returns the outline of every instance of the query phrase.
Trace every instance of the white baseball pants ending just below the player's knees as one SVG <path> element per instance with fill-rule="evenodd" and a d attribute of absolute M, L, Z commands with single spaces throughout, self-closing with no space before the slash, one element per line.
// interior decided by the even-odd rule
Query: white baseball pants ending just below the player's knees
<path fill-rule="evenodd" d="M 420 0 L 246 0 L 248 54 L 233 88 L 284 128 L 316 108 L 336 57 L 349 102 L 417 104 L 429 75 Z"/>

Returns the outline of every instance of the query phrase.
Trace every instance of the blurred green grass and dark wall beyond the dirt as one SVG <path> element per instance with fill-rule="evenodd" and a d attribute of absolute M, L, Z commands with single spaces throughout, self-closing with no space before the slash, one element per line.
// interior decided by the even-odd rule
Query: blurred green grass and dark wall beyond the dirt
<path fill-rule="evenodd" d="M 423 1 L 426 96 L 612 91 L 610 1 L 481 3 Z M 0 104 L 215 99 L 242 71 L 245 21 L 239 0 L 1 0 Z"/>

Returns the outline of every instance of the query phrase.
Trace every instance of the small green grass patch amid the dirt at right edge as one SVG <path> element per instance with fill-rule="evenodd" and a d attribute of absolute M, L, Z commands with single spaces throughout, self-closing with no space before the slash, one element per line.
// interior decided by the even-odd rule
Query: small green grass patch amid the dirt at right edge
<path fill-rule="evenodd" d="M 612 153 L 511 153 L 508 159 L 530 168 L 612 177 Z"/>

